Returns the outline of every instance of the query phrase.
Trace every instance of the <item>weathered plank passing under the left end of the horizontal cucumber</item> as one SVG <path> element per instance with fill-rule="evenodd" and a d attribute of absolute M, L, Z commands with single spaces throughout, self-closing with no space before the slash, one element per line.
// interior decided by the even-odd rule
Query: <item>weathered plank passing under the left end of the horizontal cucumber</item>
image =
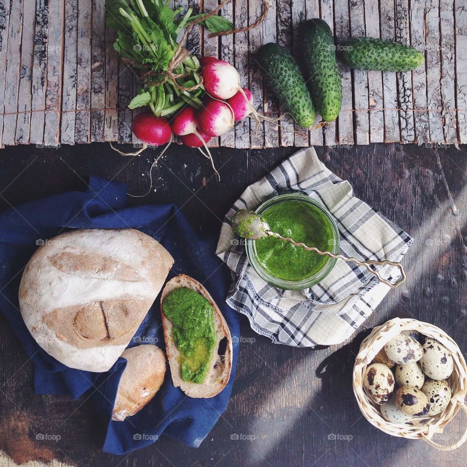
<path fill-rule="evenodd" d="M 350 36 L 349 5 L 346 1 L 338 1 L 334 5 L 334 21 L 336 23 L 336 39 L 346 40 Z M 379 22 L 378 22 L 379 24 Z M 341 113 L 337 118 L 339 144 L 354 144 L 354 112 L 352 111 L 352 73 L 340 64 L 342 80 Z"/>

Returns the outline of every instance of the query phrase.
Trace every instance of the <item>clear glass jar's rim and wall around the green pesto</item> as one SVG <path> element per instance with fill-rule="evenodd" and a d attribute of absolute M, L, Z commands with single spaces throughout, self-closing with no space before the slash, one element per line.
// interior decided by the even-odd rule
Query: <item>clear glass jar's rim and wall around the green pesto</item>
<path fill-rule="evenodd" d="M 331 253 L 338 254 L 340 251 L 340 236 L 334 217 L 322 204 L 315 201 L 314 199 L 311 199 L 308 196 L 299 193 L 287 193 L 285 195 L 277 195 L 273 198 L 269 198 L 267 201 L 261 204 L 258 207 L 258 209 L 256 209 L 256 213 L 259 215 L 263 215 L 272 206 L 288 201 L 300 201 L 309 205 L 310 207 L 313 207 L 313 209 L 317 210 L 323 215 L 323 219 L 325 219 L 325 221 L 328 222 L 328 227 L 331 232 L 330 236 L 332 237 L 328 238 L 327 247 L 323 251 L 330 251 Z M 296 238 L 294 238 L 294 240 L 297 241 Z M 258 240 L 258 242 L 261 241 L 263 240 Z M 323 264 L 323 266 L 319 270 L 315 271 L 313 274 L 298 280 L 288 280 L 276 277 L 265 269 L 265 267 L 263 266 L 263 264 L 261 264 L 260 260 L 257 257 L 255 240 L 247 240 L 245 248 L 250 264 L 253 267 L 253 269 L 257 272 L 257 274 L 260 277 L 262 277 L 266 282 L 268 282 L 268 284 L 270 284 L 271 286 L 280 287 L 286 290 L 303 290 L 305 288 L 314 286 L 329 274 L 329 272 L 334 267 L 337 261 L 336 259 L 328 257 L 328 260 Z M 284 260 L 287 260 L 286 255 L 284 255 Z"/>

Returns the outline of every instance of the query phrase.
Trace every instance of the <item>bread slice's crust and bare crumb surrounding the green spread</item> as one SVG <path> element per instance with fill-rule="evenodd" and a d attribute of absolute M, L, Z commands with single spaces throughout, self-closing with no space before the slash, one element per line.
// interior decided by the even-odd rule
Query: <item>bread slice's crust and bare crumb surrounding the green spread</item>
<path fill-rule="evenodd" d="M 206 379 L 202 383 L 194 383 L 185 381 L 181 378 L 180 368 L 180 352 L 175 342 L 172 339 L 172 322 L 164 314 L 164 298 L 174 289 L 179 287 L 187 287 L 196 290 L 206 300 L 209 301 L 214 308 L 214 328 L 216 331 L 216 345 L 213 349 L 211 357 L 210 370 L 206 375 Z M 192 277 L 180 274 L 169 282 L 162 290 L 161 297 L 161 315 L 162 326 L 164 330 L 165 351 L 169 360 L 170 372 L 172 373 L 172 381 L 174 386 L 180 389 L 189 397 L 214 397 L 219 394 L 227 385 L 232 370 L 232 337 L 229 327 L 222 316 L 218 306 L 214 302 L 208 291 Z M 224 355 L 218 355 L 219 342 L 227 339 L 227 345 Z"/>

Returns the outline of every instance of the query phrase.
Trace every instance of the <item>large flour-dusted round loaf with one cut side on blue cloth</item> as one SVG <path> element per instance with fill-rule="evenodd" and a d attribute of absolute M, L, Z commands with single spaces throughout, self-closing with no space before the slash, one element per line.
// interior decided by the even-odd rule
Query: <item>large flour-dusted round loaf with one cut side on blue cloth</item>
<path fill-rule="evenodd" d="M 37 343 L 61 363 L 107 371 L 122 355 L 174 260 L 137 230 L 76 230 L 33 254 L 19 306 Z"/>

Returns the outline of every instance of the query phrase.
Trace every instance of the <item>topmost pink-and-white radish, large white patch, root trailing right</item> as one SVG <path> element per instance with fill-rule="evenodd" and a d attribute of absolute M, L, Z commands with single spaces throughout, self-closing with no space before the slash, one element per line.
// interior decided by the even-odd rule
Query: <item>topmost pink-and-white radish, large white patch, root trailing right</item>
<path fill-rule="evenodd" d="M 256 129 L 259 128 L 260 120 L 277 125 L 279 119 L 271 119 L 260 115 L 250 103 L 245 90 L 240 86 L 240 76 L 235 68 L 224 60 L 211 61 L 201 68 L 201 76 L 203 77 L 203 85 L 206 92 L 216 99 L 229 100 L 238 92 L 243 95 L 247 106 L 256 120 Z M 209 134 L 209 133 L 208 133 Z"/>

